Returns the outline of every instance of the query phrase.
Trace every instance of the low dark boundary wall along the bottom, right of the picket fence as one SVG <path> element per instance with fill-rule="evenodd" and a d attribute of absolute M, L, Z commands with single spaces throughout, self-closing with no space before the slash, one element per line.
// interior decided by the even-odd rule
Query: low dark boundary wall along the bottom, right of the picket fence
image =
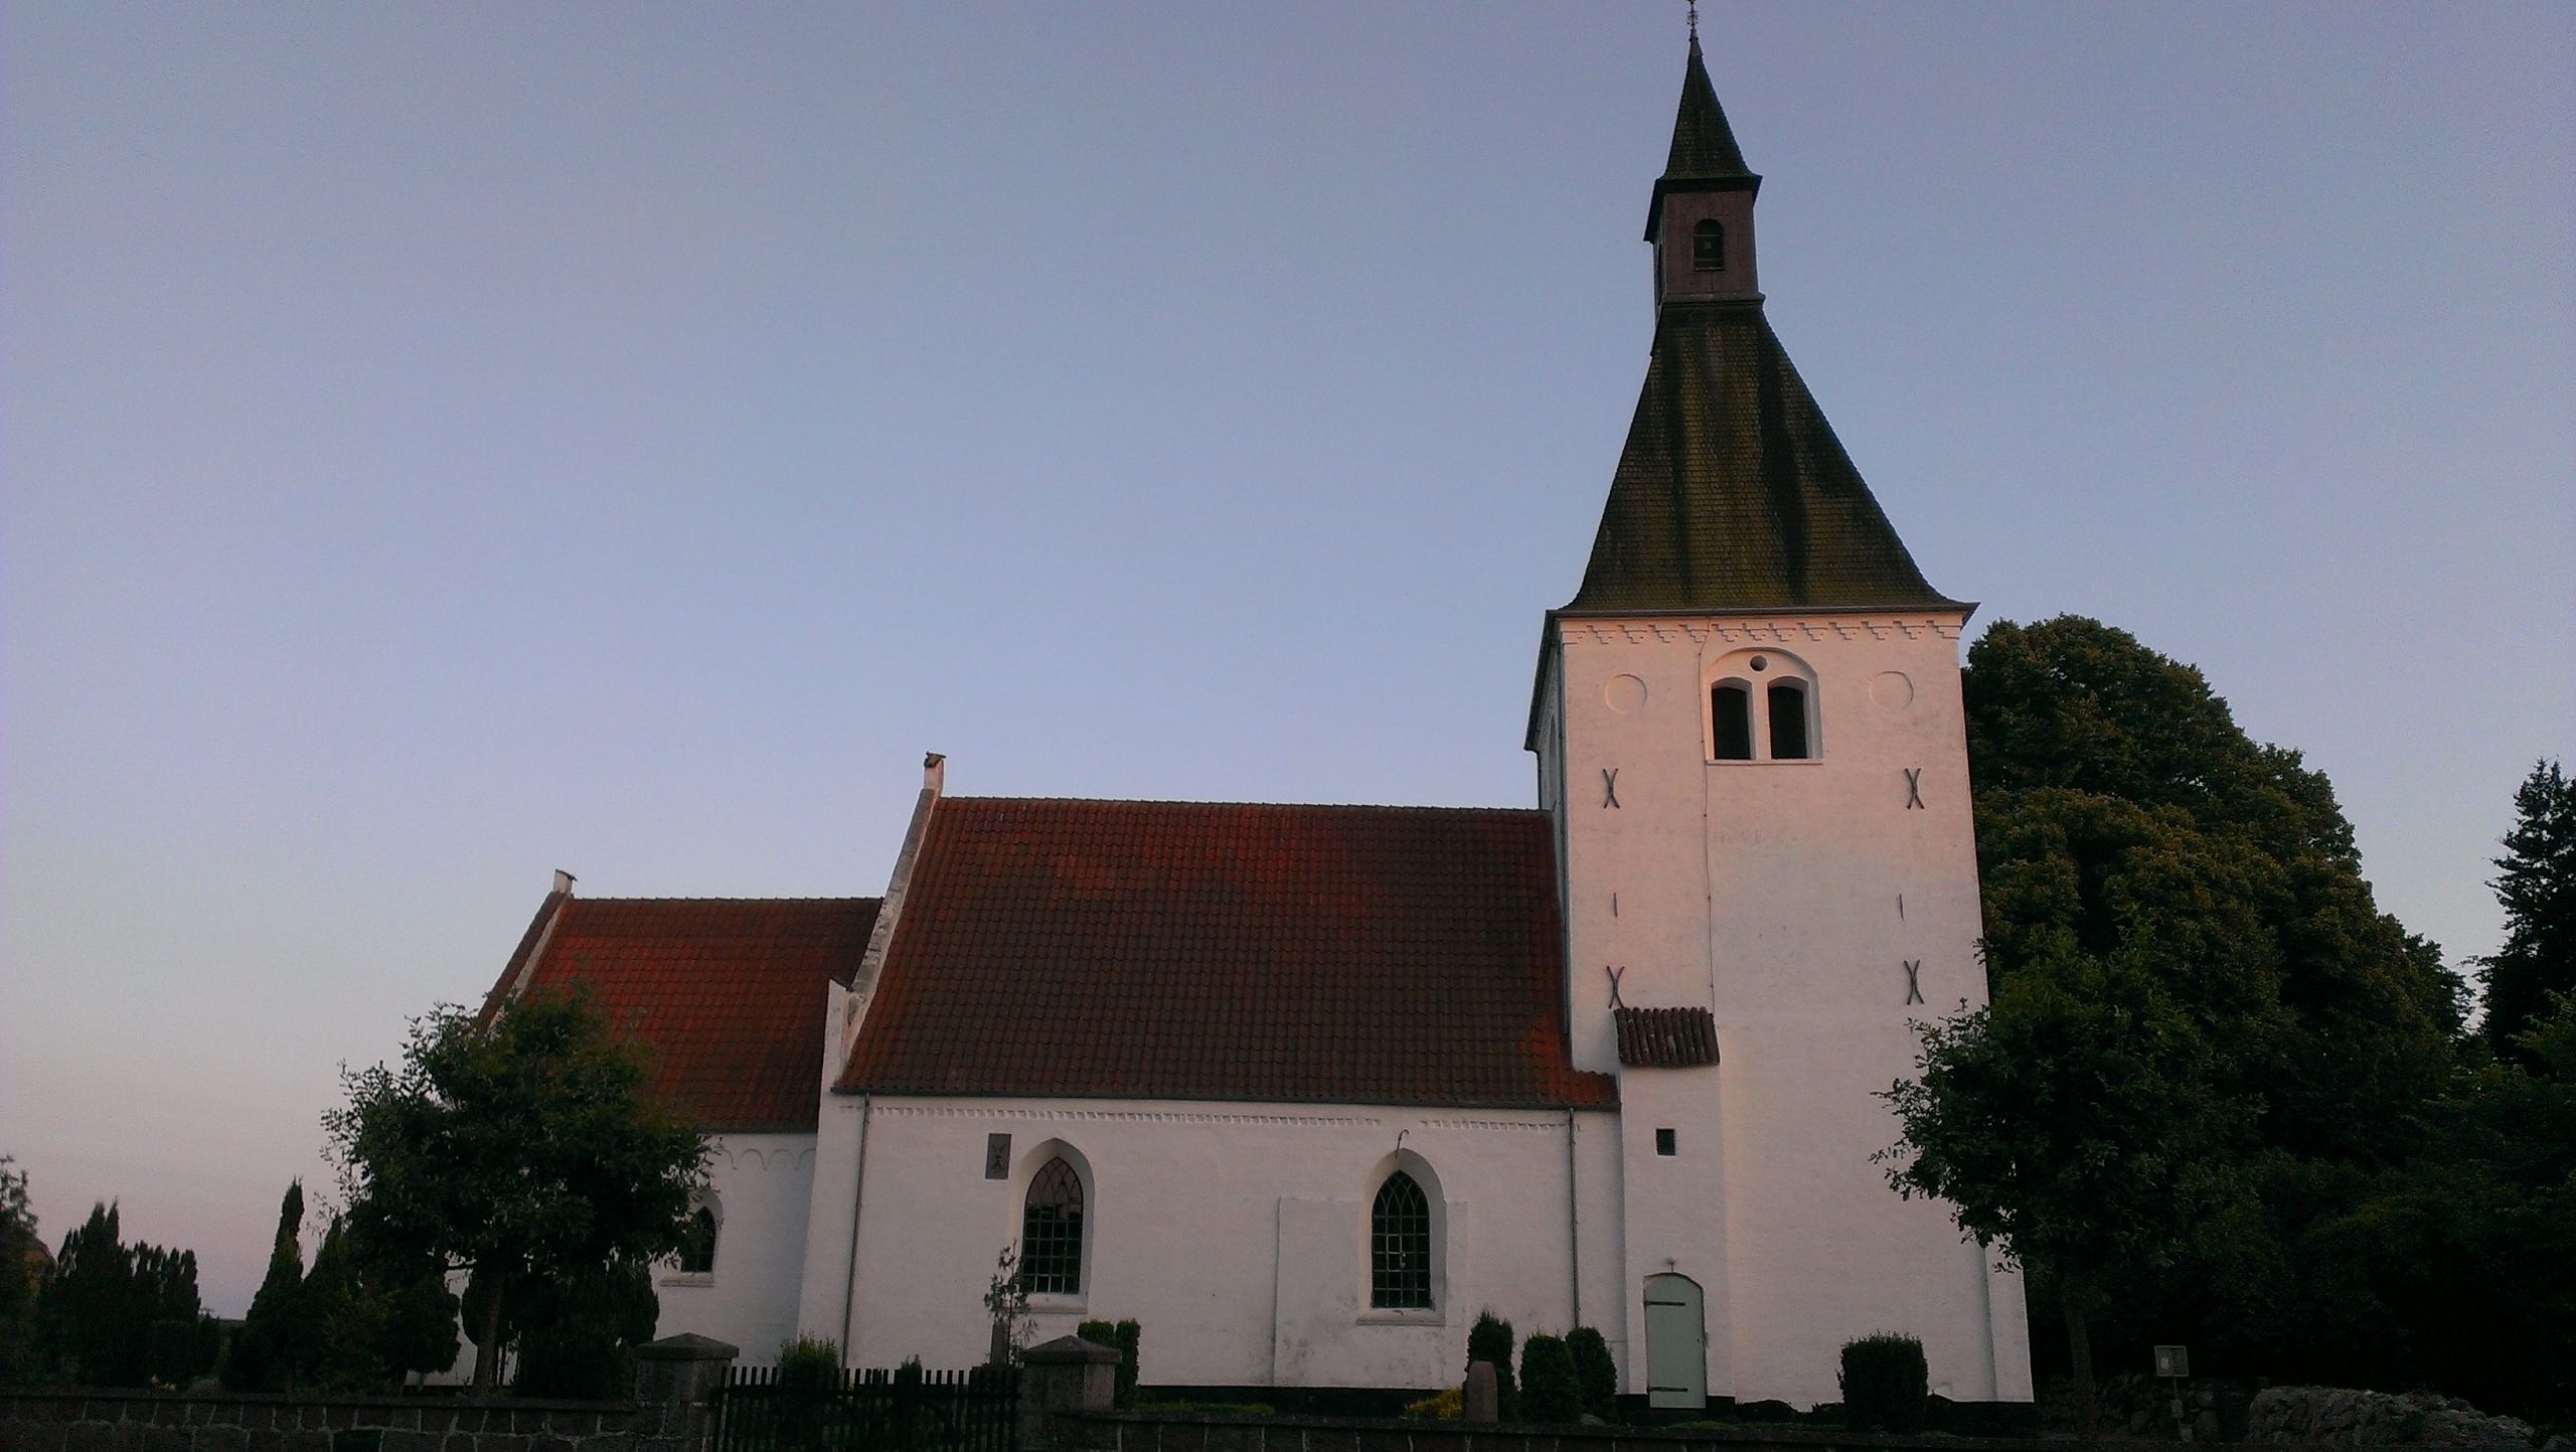
<path fill-rule="evenodd" d="M 2138 1452 L 2130 1437 L 1878 1437 L 1816 1426 L 1659 1431 L 1641 1426 L 1476 1426 L 1345 1416 L 1221 1416 L 1175 1411 L 1056 1411 L 1054 1447 L 1079 1452 Z M 2172 1447 L 2172 1444 L 2166 1444 Z M 2257 1447 L 2195 1442 L 2192 1447 Z M 2380 1442 L 2372 1452 L 2463 1447 Z M 2504 1447 L 2524 1449 L 2527 1442 Z M 1025 1449 L 1023 1449 L 1025 1452 Z"/>

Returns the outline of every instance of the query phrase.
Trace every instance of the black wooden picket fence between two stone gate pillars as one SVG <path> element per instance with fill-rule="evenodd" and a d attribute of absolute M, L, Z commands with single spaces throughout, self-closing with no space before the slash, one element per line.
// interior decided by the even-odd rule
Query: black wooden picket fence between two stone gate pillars
<path fill-rule="evenodd" d="M 708 1452 L 1012 1452 L 1020 1390 L 1007 1370 L 845 1370 L 778 1385 L 778 1367 L 734 1367 L 716 1390 Z"/>

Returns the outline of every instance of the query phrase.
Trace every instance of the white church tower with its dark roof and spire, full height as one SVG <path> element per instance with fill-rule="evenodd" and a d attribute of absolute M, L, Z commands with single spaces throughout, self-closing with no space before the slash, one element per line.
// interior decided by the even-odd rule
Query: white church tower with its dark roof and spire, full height
<path fill-rule="evenodd" d="M 1625 1390 L 1656 1406 L 1837 1401 L 1873 1331 L 1919 1336 L 1940 1395 L 2030 1401 L 2020 1277 L 1870 1159 L 1911 1019 L 1986 999 L 1973 605 L 1924 582 L 1772 335 L 1759 188 L 1692 39 L 1646 209 L 1654 355 L 1528 739 L 1574 1063 L 1620 1081 L 1618 1243 L 1587 1225 L 1587 1254 L 1623 1267 Z"/>

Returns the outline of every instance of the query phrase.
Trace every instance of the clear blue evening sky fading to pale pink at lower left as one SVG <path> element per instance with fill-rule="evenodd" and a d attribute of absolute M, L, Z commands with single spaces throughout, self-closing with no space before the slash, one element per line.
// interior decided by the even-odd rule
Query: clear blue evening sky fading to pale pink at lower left
<path fill-rule="evenodd" d="M 551 868 L 961 793 L 1530 803 L 1672 3 L 8 5 L 0 1153 L 240 1313 Z M 1710 5 L 1770 314 L 1978 623 L 2099 615 L 2499 937 L 2576 754 L 2563 5 Z"/>

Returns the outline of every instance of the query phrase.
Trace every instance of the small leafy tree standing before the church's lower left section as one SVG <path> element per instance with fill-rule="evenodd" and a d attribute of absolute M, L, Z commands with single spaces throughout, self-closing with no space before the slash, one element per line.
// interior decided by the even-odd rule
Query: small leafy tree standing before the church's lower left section
<path fill-rule="evenodd" d="M 585 996 L 526 996 L 492 1017 L 440 1007 L 412 1019 L 399 1068 L 345 1074 L 345 1089 L 325 1128 L 350 1231 L 381 1254 L 474 1272 L 474 1385 L 500 1382 L 510 1328 L 556 1336 L 523 1349 L 538 1380 L 611 1375 L 587 1328 L 513 1305 L 544 1308 L 562 1285 L 629 1287 L 688 1236 L 706 1140 L 649 1094 L 644 1048 Z M 595 1321 L 621 1339 L 629 1310 L 618 1300 Z"/>

